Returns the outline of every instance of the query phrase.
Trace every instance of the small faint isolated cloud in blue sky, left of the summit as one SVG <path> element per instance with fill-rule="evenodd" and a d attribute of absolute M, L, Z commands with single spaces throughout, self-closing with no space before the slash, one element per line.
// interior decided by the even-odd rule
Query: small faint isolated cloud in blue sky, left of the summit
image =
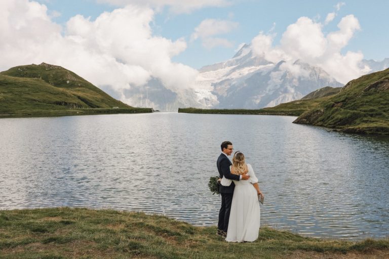
<path fill-rule="evenodd" d="M 203 46 L 207 49 L 212 49 L 217 46 L 232 48 L 234 44 L 231 41 L 213 36 L 228 33 L 231 30 L 238 28 L 238 26 L 239 23 L 237 22 L 205 19 L 195 28 L 195 32 L 190 36 L 190 40 L 202 39 Z"/>

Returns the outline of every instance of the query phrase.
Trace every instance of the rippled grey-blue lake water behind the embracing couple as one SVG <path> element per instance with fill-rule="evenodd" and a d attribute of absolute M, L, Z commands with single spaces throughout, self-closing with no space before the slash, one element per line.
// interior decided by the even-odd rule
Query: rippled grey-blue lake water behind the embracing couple
<path fill-rule="evenodd" d="M 261 225 L 313 237 L 389 236 L 389 138 L 295 117 L 185 113 L 0 119 L 0 209 L 90 207 L 217 223 L 220 143 L 251 163 Z"/>

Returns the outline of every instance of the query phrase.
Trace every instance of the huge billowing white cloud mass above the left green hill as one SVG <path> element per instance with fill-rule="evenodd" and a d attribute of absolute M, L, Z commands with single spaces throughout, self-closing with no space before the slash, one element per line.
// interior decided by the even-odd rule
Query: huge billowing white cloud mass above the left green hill
<path fill-rule="evenodd" d="M 167 88 L 191 87 L 197 70 L 173 63 L 186 49 L 184 39 L 152 35 L 154 11 L 127 6 L 95 21 L 77 15 L 66 27 L 51 21 L 45 5 L 28 0 L 0 2 L 0 69 L 41 62 L 63 66 L 118 94 L 151 77 Z"/>

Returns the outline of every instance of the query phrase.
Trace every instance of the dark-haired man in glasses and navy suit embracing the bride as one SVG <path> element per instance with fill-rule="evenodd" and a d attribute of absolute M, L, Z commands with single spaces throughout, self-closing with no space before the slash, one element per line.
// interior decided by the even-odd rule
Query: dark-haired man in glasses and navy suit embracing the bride
<path fill-rule="evenodd" d="M 234 150 L 234 148 L 232 148 L 232 143 L 229 141 L 224 141 L 223 143 L 221 143 L 220 147 L 222 153 L 220 154 L 216 162 L 216 166 L 217 166 L 217 170 L 219 171 L 220 178 L 225 177 L 226 179 L 236 180 L 236 181 L 242 179 L 248 180 L 249 176 L 233 175 L 229 170 L 229 166 L 232 164 L 229 161 L 228 156 L 230 156 L 232 150 Z M 223 238 L 227 236 L 229 212 L 231 210 L 231 203 L 232 203 L 232 196 L 234 195 L 234 189 L 235 189 L 234 182 L 232 182 L 230 186 L 220 185 L 219 187 L 219 191 L 221 194 L 221 208 L 219 211 L 219 223 L 217 225 L 216 234 L 222 236 Z"/>

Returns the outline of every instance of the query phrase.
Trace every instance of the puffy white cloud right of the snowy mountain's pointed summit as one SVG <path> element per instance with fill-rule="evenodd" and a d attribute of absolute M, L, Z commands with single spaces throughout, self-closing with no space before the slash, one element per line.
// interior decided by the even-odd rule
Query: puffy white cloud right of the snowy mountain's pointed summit
<path fill-rule="evenodd" d="M 286 61 L 282 67 L 293 73 L 304 75 L 304 71 L 293 64 L 300 60 L 322 67 L 336 80 L 346 83 L 367 71 L 360 68 L 363 59 L 361 52 L 341 54 L 341 50 L 360 29 L 358 19 L 354 15 L 347 15 L 338 23 L 338 28 L 338 31 L 325 35 L 323 24 L 301 17 L 287 27 L 280 45 L 273 46 L 274 34 L 261 32 L 252 40 L 251 46 L 255 55 L 268 61 Z"/>

